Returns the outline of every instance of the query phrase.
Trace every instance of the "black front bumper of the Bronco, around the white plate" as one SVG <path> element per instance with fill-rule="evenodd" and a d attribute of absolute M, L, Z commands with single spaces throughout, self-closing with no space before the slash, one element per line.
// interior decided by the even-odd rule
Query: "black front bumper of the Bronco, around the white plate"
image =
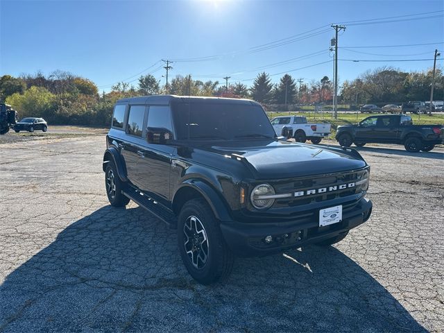
<path fill-rule="evenodd" d="M 362 198 L 353 210 L 343 214 L 340 223 L 325 227 L 319 227 L 317 219 L 308 223 L 297 220 L 282 223 L 224 222 L 221 223 L 221 231 L 230 250 L 239 257 L 271 255 L 347 232 L 367 221 L 372 207 L 370 200 Z M 273 237 L 273 241 L 266 244 L 264 238 L 268 235 Z"/>

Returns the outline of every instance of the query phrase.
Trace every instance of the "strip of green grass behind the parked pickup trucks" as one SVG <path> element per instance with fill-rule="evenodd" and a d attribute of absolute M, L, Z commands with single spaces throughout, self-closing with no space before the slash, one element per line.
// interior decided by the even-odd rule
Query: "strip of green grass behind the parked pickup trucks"
<path fill-rule="evenodd" d="M 307 117 L 307 121 L 316 123 L 331 123 L 332 124 L 332 134 L 330 138 L 334 139 L 336 134 L 336 128 L 341 125 L 347 125 L 352 123 L 358 123 L 364 118 L 381 115 L 381 114 L 368 114 L 368 113 L 338 113 L 338 119 L 332 117 L 332 112 L 314 113 L 314 112 L 267 112 L 270 119 L 279 116 L 296 115 Z M 444 124 L 444 113 L 443 114 L 409 114 L 413 120 L 413 125 L 443 125 Z"/>

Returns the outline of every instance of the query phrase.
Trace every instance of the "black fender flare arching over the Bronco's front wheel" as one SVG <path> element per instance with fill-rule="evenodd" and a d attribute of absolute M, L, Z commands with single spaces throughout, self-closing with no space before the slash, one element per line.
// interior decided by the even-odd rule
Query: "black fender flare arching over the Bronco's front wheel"
<path fill-rule="evenodd" d="M 191 189 L 195 189 L 196 191 L 198 191 L 200 195 L 203 196 L 203 198 L 205 198 L 208 205 L 210 205 L 210 208 L 214 213 L 214 216 L 216 216 L 216 219 L 224 222 L 232 221 L 232 217 L 230 216 L 230 213 L 228 212 L 227 208 L 228 204 L 224 203 L 223 199 L 216 192 L 216 190 L 203 180 L 191 178 L 185 180 L 185 182 L 182 182 L 182 185 L 180 185 L 180 187 L 176 191 L 176 194 L 174 194 L 173 203 L 180 189 L 183 189 L 184 187 L 191 187 Z"/>

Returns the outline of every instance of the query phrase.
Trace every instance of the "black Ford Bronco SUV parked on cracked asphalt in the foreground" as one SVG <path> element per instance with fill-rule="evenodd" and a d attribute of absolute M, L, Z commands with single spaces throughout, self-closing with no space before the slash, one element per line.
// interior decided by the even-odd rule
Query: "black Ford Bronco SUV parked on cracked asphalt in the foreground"
<path fill-rule="evenodd" d="M 282 139 L 254 101 L 121 99 L 103 156 L 108 199 L 176 229 L 203 284 L 227 276 L 234 256 L 327 246 L 368 220 L 370 167 L 357 151 Z"/>

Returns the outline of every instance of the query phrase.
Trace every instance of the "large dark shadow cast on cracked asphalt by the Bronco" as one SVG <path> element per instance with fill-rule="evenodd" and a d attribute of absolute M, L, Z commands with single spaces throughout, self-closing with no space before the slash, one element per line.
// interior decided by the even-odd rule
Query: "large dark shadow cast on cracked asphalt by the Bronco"
<path fill-rule="evenodd" d="M 334 247 L 237 259 L 202 286 L 174 230 L 106 206 L 58 234 L 0 286 L 0 332 L 426 332 Z"/>

